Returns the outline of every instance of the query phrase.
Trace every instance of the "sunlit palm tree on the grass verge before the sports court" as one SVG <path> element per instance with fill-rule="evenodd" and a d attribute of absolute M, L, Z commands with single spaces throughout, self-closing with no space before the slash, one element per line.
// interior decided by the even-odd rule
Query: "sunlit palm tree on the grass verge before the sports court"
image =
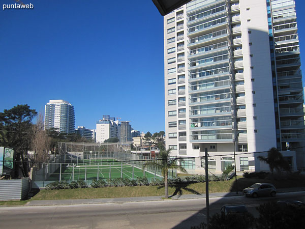
<path fill-rule="evenodd" d="M 168 198 L 168 170 L 169 169 L 177 169 L 179 168 L 182 173 L 187 173 L 187 170 L 177 165 L 177 158 L 170 158 L 171 149 L 165 150 L 160 149 L 159 159 L 154 161 L 145 162 L 143 167 L 147 165 L 156 166 L 157 169 L 161 169 L 163 177 L 164 177 L 164 188 L 165 188 L 165 198 Z"/>

